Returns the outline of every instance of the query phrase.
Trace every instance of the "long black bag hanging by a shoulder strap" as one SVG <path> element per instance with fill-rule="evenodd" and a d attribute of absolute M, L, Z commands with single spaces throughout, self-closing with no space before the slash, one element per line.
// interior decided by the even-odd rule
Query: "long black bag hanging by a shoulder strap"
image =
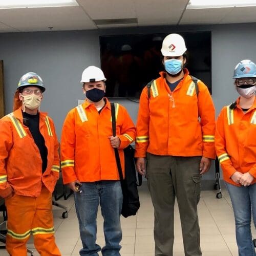
<path fill-rule="evenodd" d="M 113 136 L 116 136 L 116 118 L 115 118 L 115 105 L 111 103 L 111 116 L 112 116 L 112 130 Z M 134 159 L 134 148 L 129 145 L 124 148 L 124 173 L 125 177 L 123 179 L 122 167 L 120 162 L 120 156 L 118 149 L 114 148 L 116 163 L 118 168 L 118 173 L 120 177 L 120 183 L 123 193 L 123 204 L 121 214 L 123 217 L 127 218 L 132 215 L 136 215 L 139 207 L 139 193 L 137 186 L 140 186 L 142 183 L 142 176 L 138 174 L 139 183 L 137 183 L 137 172 L 135 168 L 135 159 Z"/>

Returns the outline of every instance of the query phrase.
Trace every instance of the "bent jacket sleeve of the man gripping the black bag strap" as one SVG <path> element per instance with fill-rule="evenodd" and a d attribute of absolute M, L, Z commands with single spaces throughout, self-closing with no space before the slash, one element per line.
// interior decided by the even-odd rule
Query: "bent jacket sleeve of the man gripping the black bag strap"
<path fill-rule="evenodd" d="M 129 146 L 135 140 L 135 136 L 136 129 L 133 120 L 131 119 L 127 110 L 122 107 L 122 125 L 120 135 L 118 135 L 121 141 L 119 148 L 123 149 Z"/>

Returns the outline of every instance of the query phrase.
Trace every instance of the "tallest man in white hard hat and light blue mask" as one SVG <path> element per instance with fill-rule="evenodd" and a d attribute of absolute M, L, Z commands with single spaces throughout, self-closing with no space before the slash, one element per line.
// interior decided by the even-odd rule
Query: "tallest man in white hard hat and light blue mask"
<path fill-rule="evenodd" d="M 173 255 L 176 197 L 185 255 L 199 256 L 197 204 L 201 176 L 215 159 L 215 108 L 205 84 L 196 84 L 184 68 L 183 37 L 167 35 L 161 53 L 165 71 L 152 82 L 150 94 L 145 87 L 140 96 L 136 166 L 142 175 L 146 170 L 155 209 L 155 255 Z"/>

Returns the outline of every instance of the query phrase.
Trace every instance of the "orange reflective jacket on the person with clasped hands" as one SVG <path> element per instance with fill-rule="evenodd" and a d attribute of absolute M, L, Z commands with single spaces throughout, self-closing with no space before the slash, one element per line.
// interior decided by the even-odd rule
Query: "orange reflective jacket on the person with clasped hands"
<path fill-rule="evenodd" d="M 226 182 L 240 186 L 231 180 L 235 172 L 249 172 L 256 182 L 256 98 L 244 113 L 237 99 L 236 107 L 225 106 L 217 119 L 216 153 Z M 233 104 L 231 104 L 233 105 Z"/>

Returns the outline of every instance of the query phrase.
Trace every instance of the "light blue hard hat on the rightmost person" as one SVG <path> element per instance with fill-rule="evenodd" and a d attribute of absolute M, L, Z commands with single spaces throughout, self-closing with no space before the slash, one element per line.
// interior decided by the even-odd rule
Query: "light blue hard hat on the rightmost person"
<path fill-rule="evenodd" d="M 249 59 L 241 60 L 234 68 L 233 78 L 256 77 L 256 65 Z"/>

